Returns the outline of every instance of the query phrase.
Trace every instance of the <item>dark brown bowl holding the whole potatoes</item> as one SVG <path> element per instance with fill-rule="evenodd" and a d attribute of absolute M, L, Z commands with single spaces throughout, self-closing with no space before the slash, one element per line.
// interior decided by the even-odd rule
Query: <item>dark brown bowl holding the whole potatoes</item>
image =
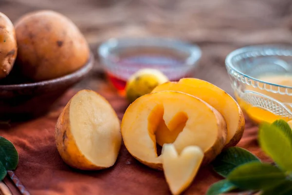
<path fill-rule="evenodd" d="M 89 74 L 93 61 L 91 54 L 82 68 L 60 78 L 0 85 L 0 120 L 23 120 L 47 113 L 67 89 Z"/>

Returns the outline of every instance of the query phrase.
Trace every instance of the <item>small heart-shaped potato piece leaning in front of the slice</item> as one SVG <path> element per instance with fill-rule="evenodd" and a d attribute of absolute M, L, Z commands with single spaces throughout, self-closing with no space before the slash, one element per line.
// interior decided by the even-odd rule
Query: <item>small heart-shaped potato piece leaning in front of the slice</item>
<path fill-rule="evenodd" d="M 204 153 L 198 146 L 187 146 L 178 154 L 173 144 L 164 144 L 161 156 L 170 191 L 173 195 L 179 195 L 197 175 Z"/>

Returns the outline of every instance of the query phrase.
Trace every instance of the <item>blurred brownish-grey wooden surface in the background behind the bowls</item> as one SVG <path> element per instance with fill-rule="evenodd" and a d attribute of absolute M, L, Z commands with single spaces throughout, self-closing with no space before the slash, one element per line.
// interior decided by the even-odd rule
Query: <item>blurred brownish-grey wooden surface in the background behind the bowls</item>
<path fill-rule="evenodd" d="M 292 43 L 291 0 L 1 0 L 13 22 L 27 12 L 52 9 L 80 28 L 96 56 L 95 71 L 76 87 L 102 78 L 96 49 L 112 37 L 163 36 L 198 44 L 197 78 L 232 94 L 224 60 L 251 44 Z M 212 75 L 212 77 L 210 77 Z"/>

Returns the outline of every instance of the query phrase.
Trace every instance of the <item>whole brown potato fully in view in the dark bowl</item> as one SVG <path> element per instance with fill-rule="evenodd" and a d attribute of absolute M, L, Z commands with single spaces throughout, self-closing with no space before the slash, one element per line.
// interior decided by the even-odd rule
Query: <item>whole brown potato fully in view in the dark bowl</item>
<path fill-rule="evenodd" d="M 50 10 L 24 15 L 15 23 L 17 65 L 34 81 L 70 74 L 88 61 L 90 48 L 76 25 Z"/>

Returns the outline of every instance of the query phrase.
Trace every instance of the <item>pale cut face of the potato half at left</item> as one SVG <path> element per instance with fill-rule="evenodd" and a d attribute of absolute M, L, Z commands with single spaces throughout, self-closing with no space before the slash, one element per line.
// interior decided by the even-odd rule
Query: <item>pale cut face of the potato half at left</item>
<path fill-rule="evenodd" d="M 121 145 L 119 119 L 95 92 L 77 94 L 70 105 L 70 123 L 80 152 L 93 164 L 110 167 Z"/>

